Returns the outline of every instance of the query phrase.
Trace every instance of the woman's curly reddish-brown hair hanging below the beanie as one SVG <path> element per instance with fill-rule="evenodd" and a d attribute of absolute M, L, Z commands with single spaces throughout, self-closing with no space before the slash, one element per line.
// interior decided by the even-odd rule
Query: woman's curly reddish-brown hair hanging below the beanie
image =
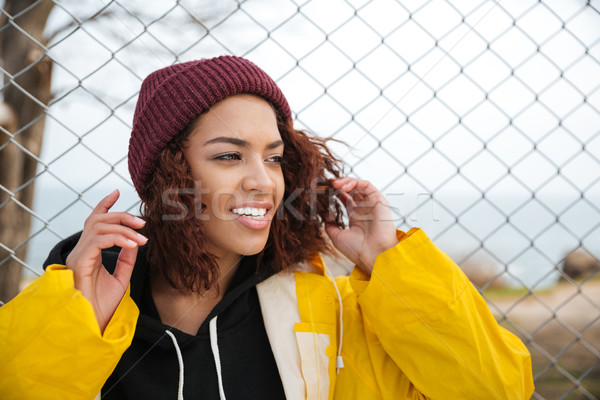
<path fill-rule="evenodd" d="M 207 250 L 205 231 L 196 212 L 195 181 L 182 148 L 198 116 L 161 152 L 154 174 L 142 192 L 146 220 L 147 257 L 151 273 L 161 274 L 182 293 L 201 293 L 219 278 L 216 257 Z M 335 250 L 323 230 L 325 221 L 343 227 L 343 211 L 331 179 L 343 173 L 343 163 L 327 146 L 329 140 L 293 128 L 277 117 L 284 142 L 282 163 L 285 191 L 256 268 L 293 269 L 317 253 Z"/>

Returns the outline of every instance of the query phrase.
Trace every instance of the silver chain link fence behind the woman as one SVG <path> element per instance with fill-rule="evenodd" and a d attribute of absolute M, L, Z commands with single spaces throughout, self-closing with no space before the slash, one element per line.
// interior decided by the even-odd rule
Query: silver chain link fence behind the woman
<path fill-rule="evenodd" d="M 47 22 L 27 20 L 43 7 Z M 600 1 L 39 0 L 3 17 L 0 35 L 38 53 L 17 71 L 4 54 L 2 99 L 36 101 L 19 77 L 42 60 L 53 75 L 47 107 L 0 132 L 0 152 L 37 162 L 0 186 L 0 209 L 32 220 L 0 243 L 0 268 L 40 274 L 115 187 L 136 212 L 126 151 L 142 79 L 240 55 L 280 84 L 299 127 L 347 144 L 332 146 L 400 228 L 424 227 L 469 274 L 530 349 L 533 398 L 600 397 Z M 19 135 L 40 119 L 38 156 Z"/>

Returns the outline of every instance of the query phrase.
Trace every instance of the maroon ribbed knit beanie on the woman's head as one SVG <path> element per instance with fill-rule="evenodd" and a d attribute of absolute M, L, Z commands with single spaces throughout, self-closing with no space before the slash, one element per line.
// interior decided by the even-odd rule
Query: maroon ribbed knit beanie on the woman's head
<path fill-rule="evenodd" d="M 280 118 L 291 121 L 287 100 L 275 82 L 241 57 L 221 56 L 171 65 L 142 83 L 129 140 L 129 173 L 138 194 L 154 173 L 160 152 L 203 111 L 229 96 L 263 97 Z"/>

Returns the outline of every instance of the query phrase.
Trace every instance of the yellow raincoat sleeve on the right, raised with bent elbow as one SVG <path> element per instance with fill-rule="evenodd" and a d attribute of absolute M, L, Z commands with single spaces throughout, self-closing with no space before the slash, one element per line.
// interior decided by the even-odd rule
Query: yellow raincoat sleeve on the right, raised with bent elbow
<path fill-rule="evenodd" d="M 531 357 L 460 268 L 420 229 L 398 232 L 350 284 L 385 352 L 429 399 L 529 399 Z M 423 398 L 419 394 L 417 398 Z"/>

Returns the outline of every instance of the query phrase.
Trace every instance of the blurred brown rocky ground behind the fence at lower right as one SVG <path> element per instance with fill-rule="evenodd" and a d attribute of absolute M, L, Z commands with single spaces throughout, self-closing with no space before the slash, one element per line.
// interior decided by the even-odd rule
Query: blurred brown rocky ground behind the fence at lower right
<path fill-rule="evenodd" d="M 600 279 L 580 284 L 486 293 L 496 318 L 531 352 L 534 399 L 600 398 Z"/>

